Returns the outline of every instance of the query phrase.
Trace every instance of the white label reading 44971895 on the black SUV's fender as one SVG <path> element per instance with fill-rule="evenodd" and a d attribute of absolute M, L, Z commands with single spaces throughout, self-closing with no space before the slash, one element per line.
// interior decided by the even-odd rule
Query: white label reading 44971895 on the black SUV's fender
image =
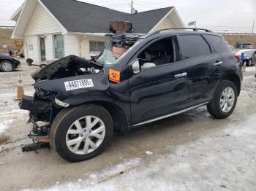
<path fill-rule="evenodd" d="M 64 82 L 66 91 L 77 90 L 85 87 L 94 87 L 91 79 L 78 79 L 73 81 Z"/>

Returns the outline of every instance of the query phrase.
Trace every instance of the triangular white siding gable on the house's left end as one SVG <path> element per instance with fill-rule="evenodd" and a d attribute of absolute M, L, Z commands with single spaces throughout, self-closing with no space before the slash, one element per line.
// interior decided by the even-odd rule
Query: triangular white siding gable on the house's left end
<path fill-rule="evenodd" d="M 56 23 L 53 17 L 37 3 L 33 15 L 29 21 L 24 36 L 35 34 L 51 34 L 61 32 L 61 27 Z"/>

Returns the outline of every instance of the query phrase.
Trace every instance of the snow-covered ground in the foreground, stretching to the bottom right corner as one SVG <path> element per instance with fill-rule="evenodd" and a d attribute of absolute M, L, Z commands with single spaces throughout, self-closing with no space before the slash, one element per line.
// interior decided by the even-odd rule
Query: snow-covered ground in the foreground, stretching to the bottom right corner
<path fill-rule="evenodd" d="M 253 114 L 244 122 L 228 124 L 222 130 L 183 144 L 176 152 L 158 155 L 149 164 L 140 159 L 127 160 L 77 182 L 59 183 L 42 190 L 254 190 L 255 123 Z M 222 157 L 216 155 L 218 152 Z"/>

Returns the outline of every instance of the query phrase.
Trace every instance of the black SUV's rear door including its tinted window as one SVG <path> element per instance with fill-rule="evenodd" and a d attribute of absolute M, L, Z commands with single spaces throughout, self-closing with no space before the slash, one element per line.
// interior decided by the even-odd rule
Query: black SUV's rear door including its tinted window
<path fill-rule="evenodd" d="M 187 65 L 189 106 L 210 101 L 220 77 L 221 55 L 200 34 L 179 35 L 178 42 Z"/>

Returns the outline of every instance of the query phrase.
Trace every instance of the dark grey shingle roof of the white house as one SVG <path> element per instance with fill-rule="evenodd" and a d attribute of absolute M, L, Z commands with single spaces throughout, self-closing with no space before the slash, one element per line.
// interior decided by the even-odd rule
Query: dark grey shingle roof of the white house
<path fill-rule="evenodd" d="M 173 7 L 129 14 L 75 0 L 41 0 L 67 31 L 110 33 L 110 20 L 132 22 L 136 33 L 146 34 Z"/>

